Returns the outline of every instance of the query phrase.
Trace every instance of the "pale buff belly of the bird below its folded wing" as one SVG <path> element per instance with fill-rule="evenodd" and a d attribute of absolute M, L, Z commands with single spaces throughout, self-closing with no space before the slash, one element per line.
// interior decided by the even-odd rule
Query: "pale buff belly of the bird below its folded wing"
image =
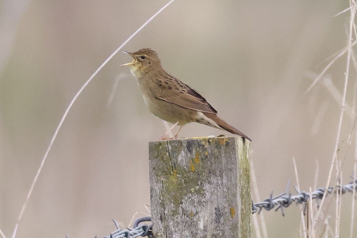
<path fill-rule="evenodd" d="M 196 117 L 193 116 L 195 113 L 189 112 L 193 111 L 191 109 L 166 102 L 155 96 L 143 94 L 143 97 L 149 111 L 164 121 L 172 124 L 178 122 L 178 125 L 180 126 L 196 121 Z"/>

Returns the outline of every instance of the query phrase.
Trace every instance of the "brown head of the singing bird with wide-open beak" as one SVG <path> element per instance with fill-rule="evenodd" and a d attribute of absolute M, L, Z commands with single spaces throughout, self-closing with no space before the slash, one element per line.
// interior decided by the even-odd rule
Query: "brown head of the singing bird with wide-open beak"
<path fill-rule="evenodd" d="M 130 71 L 137 78 L 149 71 L 161 69 L 161 60 L 155 50 L 152 50 L 150 48 L 144 48 L 132 53 L 127 51 L 122 52 L 133 57 L 133 61 L 120 66 L 129 66 Z"/>

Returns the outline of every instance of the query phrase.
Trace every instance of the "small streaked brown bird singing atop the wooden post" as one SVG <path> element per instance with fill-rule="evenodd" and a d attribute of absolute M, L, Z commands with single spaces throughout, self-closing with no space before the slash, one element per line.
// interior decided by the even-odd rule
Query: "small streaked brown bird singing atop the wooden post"
<path fill-rule="evenodd" d="M 182 126 L 190 122 L 198 122 L 252 141 L 218 117 L 215 108 L 200 93 L 162 69 L 161 60 L 155 50 L 144 48 L 132 53 L 122 52 L 134 58 L 132 62 L 120 66 L 130 67 L 149 111 L 162 120 L 174 124 L 159 140 L 173 139 L 167 135 L 176 125 L 180 128 L 174 138 L 177 138 Z"/>

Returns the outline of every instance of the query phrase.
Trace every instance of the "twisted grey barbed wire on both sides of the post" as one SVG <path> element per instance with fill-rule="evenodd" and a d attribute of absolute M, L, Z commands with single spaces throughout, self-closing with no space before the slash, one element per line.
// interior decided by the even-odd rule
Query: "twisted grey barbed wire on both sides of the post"
<path fill-rule="evenodd" d="M 341 194 L 345 194 L 346 192 L 352 192 L 353 190 L 357 191 L 357 178 L 354 179 L 354 182 L 348 183 L 346 185 L 340 186 L 336 185 L 334 187 L 329 187 L 327 190 L 327 194 L 331 194 L 333 192 L 339 192 Z M 289 183 L 287 184 L 286 187 L 286 192 L 283 192 L 275 197 L 273 197 L 273 192 L 270 194 L 270 197 L 264 199 L 263 202 L 257 202 L 253 203 L 252 199 L 252 214 L 258 212 L 258 214 L 263 210 L 270 211 L 273 209 L 275 206 L 278 206 L 275 211 L 278 211 L 278 209 L 281 209 L 281 213 L 283 216 L 284 210 L 283 207 L 288 207 L 290 206 L 293 202 L 296 204 L 305 204 L 308 199 L 310 199 L 310 193 L 306 191 L 298 191 L 297 187 L 295 187 L 297 191 L 297 195 L 291 196 L 291 193 L 287 195 L 287 190 L 289 187 Z M 317 188 L 315 191 L 311 192 L 311 197 L 312 199 L 317 199 L 318 203 L 317 206 L 319 206 L 319 201 L 322 199 L 323 194 L 325 192 L 325 188 Z M 258 211 L 259 209 L 259 211 Z M 103 238 L 134 238 L 134 237 L 139 237 L 139 236 L 147 236 L 149 238 L 155 238 L 154 234 L 152 233 L 152 226 L 153 224 L 140 224 L 141 222 L 151 222 L 151 217 L 140 217 L 136 219 L 134 222 L 134 228 L 127 228 L 127 229 L 120 229 L 117 222 L 113 220 L 115 226 L 116 226 L 116 231 L 110 233 L 110 236 L 105 236 Z"/>

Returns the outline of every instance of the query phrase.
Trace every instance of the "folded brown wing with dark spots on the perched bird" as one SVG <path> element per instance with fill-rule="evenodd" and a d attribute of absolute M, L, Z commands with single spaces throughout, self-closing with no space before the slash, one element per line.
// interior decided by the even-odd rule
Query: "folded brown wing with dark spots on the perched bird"
<path fill-rule="evenodd" d="M 163 80 L 155 79 L 154 83 L 157 86 L 152 92 L 157 98 L 195 111 L 217 113 L 200 93 L 172 75 L 168 74 Z"/>

